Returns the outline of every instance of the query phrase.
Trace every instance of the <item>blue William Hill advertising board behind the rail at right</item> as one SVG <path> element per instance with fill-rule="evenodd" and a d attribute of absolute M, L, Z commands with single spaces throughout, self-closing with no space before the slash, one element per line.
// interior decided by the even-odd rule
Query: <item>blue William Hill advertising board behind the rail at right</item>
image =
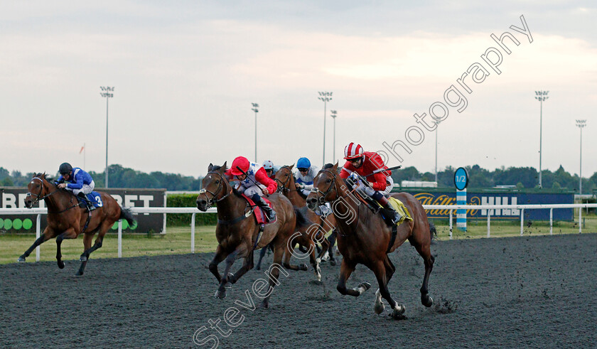
<path fill-rule="evenodd" d="M 456 205 L 456 190 L 449 188 L 394 188 L 392 191 L 411 193 L 422 205 Z M 537 205 L 574 203 L 574 193 L 539 193 L 524 191 L 492 191 L 468 189 L 467 205 Z M 520 210 L 466 210 L 466 218 L 485 218 L 488 212 L 492 220 L 520 219 Z M 429 218 L 449 218 L 449 210 L 426 210 Z M 456 217 L 456 211 L 452 212 Z M 525 220 L 549 220 L 549 209 L 525 210 Z M 574 220 L 572 208 L 554 208 L 554 220 Z"/>

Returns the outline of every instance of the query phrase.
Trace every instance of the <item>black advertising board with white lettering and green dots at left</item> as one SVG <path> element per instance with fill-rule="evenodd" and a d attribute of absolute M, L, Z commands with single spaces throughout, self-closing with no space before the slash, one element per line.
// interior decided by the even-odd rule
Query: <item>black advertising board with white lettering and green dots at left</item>
<path fill-rule="evenodd" d="M 139 207 L 166 207 L 166 189 L 122 189 L 122 188 L 98 188 L 99 191 L 112 195 L 117 203 L 127 208 Z M 25 208 L 25 196 L 27 188 L 22 187 L 0 187 L 0 208 Z M 35 207 L 45 207 L 43 201 Z M 45 228 L 45 215 L 41 217 L 41 231 Z M 0 215 L 0 232 L 35 232 L 37 215 Z M 124 232 L 164 232 L 163 213 L 144 213 L 134 215 L 137 224 L 129 227 L 126 220 L 122 220 Z M 118 230 L 118 222 L 115 222 L 109 232 Z"/>

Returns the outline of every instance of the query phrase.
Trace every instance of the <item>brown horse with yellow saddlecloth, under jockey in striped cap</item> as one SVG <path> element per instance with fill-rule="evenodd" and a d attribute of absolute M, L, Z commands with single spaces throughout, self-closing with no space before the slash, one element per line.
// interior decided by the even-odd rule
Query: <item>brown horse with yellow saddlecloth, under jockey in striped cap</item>
<path fill-rule="evenodd" d="M 354 190 L 347 188 L 338 175 L 338 163 L 319 171 L 313 181 L 313 191 L 308 195 L 307 205 L 311 210 L 323 202 L 333 205 L 333 213 L 338 223 L 338 249 L 343 255 L 337 286 L 340 294 L 360 296 L 371 287 L 369 283 L 363 282 L 354 289 L 346 288 L 346 280 L 356 265 L 364 264 L 375 273 L 380 285 L 376 292 L 375 313 L 379 314 L 384 310 L 381 299 L 383 297 L 393 309 L 392 317 L 402 318 L 404 305 L 397 304 L 387 289 L 388 281 L 396 269 L 388 254 L 406 240 L 416 248 L 425 264 L 421 303 L 427 307 L 431 306 L 433 299 L 429 296 L 427 284 L 434 266 L 434 257 L 429 245 L 435 228 L 432 225 L 430 228 L 425 210 L 414 196 L 409 193 L 394 193 L 392 196 L 404 203 L 412 217 L 412 220 L 405 220 L 397 227 L 395 237 L 392 237 L 392 229 L 385 224 L 383 218 L 358 200 Z"/>

